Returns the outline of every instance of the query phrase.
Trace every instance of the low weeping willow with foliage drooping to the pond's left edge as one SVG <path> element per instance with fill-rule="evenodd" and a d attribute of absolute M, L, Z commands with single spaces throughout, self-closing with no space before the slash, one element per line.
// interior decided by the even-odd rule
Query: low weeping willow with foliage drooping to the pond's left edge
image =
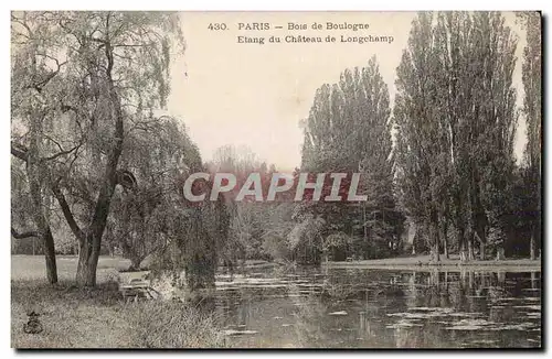
<path fill-rule="evenodd" d="M 227 241 L 231 203 L 223 194 L 217 200 L 210 200 L 213 183 L 204 180 L 193 182 L 192 194 L 205 194 L 201 202 L 190 202 L 184 196 L 188 175 L 205 172 L 200 162 L 189 163 L 173 177 L 172 191 L 166 197 L 163 229 L 168 246 L 153 255 L 152 270 L 156 276 L 168 273 L 177 294 L 192 298 L 209 296 L 214 289 L 219 250 Z M 206 293 L 205 293 L 206 292 Z"/>

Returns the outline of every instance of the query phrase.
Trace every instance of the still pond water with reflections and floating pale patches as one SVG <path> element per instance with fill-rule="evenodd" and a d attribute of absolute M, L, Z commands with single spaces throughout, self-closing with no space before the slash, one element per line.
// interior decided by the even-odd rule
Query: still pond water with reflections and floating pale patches
<path fill-rule="evenodd" d="M 216 286 L 232 347 L 541 346 L 540 272 L 301 268 Z"/>

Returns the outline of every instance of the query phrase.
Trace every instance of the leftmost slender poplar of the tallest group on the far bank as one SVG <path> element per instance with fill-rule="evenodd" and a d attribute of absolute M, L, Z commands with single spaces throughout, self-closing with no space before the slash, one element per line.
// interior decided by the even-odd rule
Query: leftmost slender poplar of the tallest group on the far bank
<path fill-rule="evenodd" d="M 439 260 L 439 205 L 443 195 L 444 133 L 437 98 L 437 57 L 433 17 L 422 12 L 413 21 L 408 47 L 397 68 L 394 121 L 401 200 L 417 227 L 428 232 Z"/>

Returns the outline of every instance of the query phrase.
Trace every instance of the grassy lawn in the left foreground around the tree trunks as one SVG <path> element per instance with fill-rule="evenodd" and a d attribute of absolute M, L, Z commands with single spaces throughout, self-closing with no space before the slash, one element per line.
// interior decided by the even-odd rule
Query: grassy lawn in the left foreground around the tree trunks
<path fill-rule="evenodd" d="M 224 337 L 212 315 L 180 302 L 125 303 L 117 269 L 125 261 L 100 258 L 98 286 L 73 285 L 76 258 L 60 258 L 60 283 L 45 281 L 44 259 L 12 255 L 11 345 L 13 348 L 213 348 Z M 40 313 L 44 330 L 25 334 L 28 313 Z"/>

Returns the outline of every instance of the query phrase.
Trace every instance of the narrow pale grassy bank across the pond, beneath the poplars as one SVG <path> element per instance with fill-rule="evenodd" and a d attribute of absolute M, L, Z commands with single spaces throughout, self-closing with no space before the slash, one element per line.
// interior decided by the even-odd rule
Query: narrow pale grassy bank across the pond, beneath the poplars
<path fill-rule="evenodd" d="M 322 265 L 330 268 L 372 268 L 372 269 L 406 269 L 413 271 L 426 271 L 432 269 L 444 270 L 488 270 L 488 271 L 520 271 L 531 272 L 541 270 L 541 260 L 530 259 L 506 259 L 495 260 L 473 260 L 460 262 L 458 254 L 452 254 L 449 259 L 440 258 L 439 262 L 431 262 L 429 255 L 414 255 L 401 258 L 385 258 L 374 260 L 362 260 L 351 262 L 326 262 Z"/>

